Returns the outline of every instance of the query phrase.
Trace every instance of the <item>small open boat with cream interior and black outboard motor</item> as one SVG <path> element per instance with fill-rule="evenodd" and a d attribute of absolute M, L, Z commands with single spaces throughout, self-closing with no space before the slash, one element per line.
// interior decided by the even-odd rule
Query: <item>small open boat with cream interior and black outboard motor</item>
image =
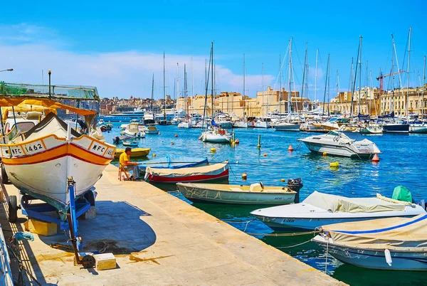
<path fill-rule="evenodd" d="M 285 186 L 263 186 L 260 184 L 176 184 L 181 194 L 193 202 L 233 203 L 241 205 L 284 205 L 293 203 L 296 191 Z"/>

